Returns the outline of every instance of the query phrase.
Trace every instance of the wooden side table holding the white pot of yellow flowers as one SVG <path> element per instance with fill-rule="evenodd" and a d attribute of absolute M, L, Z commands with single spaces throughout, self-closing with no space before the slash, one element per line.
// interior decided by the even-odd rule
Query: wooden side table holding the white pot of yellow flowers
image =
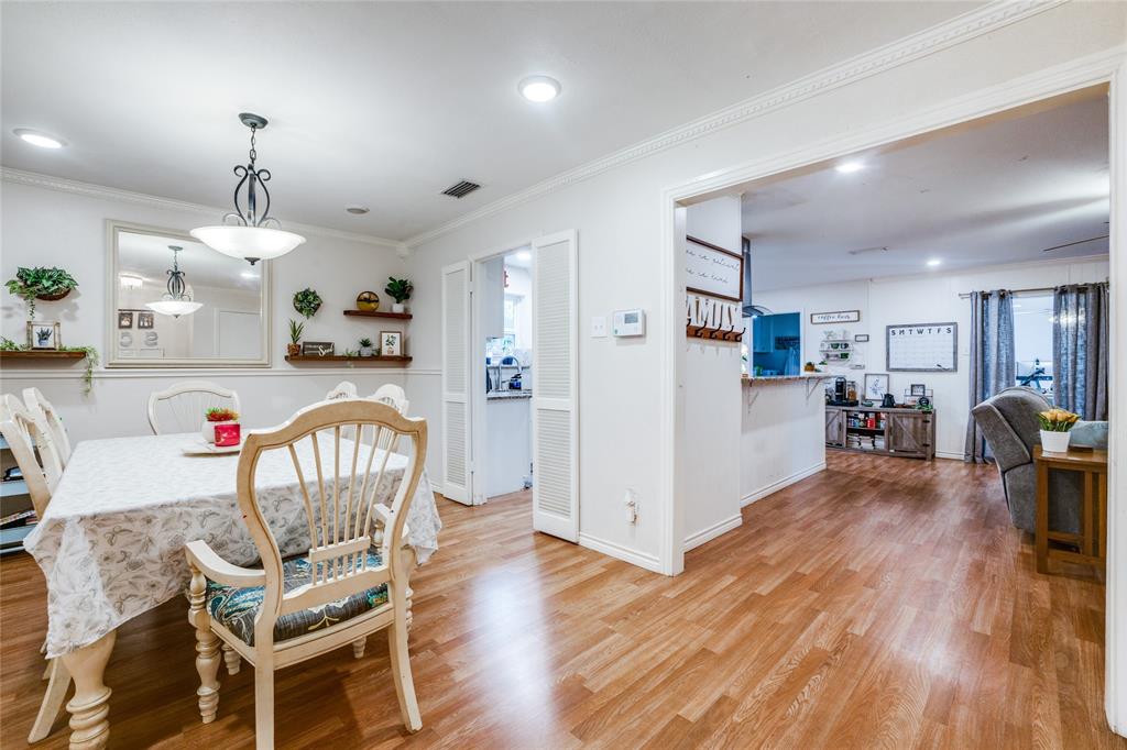
<path fill-rule="evenodd" d="M 1070 448 L 1065 453 L 1033 446 L 1037 470 L 1037 572 L 1049 572 L 1049 557 L 1104 568 L 1108 539 L 1108 452 Z M 1049 530 L 1049 470 L 1080 472 L 1080 534 Z M 1049 548 L 1049 541 L 1068 542 L 1080 552 Z"/>

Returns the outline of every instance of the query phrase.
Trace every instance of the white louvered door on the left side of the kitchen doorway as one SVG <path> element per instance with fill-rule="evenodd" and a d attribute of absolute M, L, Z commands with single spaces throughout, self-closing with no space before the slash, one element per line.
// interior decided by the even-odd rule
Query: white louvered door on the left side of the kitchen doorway
<path fill-rule="evenodd" d="M 471 505 L 470 264 L 442 269 L 442 493 Z"/>

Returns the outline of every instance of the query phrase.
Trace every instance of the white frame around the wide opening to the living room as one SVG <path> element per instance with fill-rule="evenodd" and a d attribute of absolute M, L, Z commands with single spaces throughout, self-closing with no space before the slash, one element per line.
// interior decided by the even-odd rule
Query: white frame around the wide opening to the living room
<path fill-rule="evenodd" d="M 1111 354 L 1108 486 L 1108 571 L 1107 642 L 1104 658 L 1108 723 L 1127 733 L 1127 492 L 1120 476 L 1127 449 L 1127 368 L 1122 363 L 1127 333 L 1127 45 L 1039 71 L 1005 83 L 958 97 L 941 106 L 880 125 L 825 139 L 791 152 L 747 162 L 739 167 L 710 172 L 662 191 L 662 294 L 659 315 L 662 336 L 660 465 L 664 467 L 659 507 L 662 508 L 660 570 L 676 575 L 684 569 L 682 544 L 683 495 L 678 491 L 682 472 L 683 416 L 678 398 L 684 377 L 683 297 L 685 283 L 676 252 L 677 208 L 729 193 L 738 185 L 808 164 L 837 159 L 857 151 L 922 135 L 950 125 L 978 119 L 1091 86 L 1109 84 L 1110 91 L 1110 171 L 1111 171 Z M 682 212 L 683 213 L 683 212 Z"/>

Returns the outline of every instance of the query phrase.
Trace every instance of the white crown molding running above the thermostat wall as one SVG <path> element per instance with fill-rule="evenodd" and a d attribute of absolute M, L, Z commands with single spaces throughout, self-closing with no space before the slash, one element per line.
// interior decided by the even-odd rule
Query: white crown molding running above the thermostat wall
<path fill-rule="evenodd" d="M 850 83 L 920 60 L 921 57 L 941 52 L 985 34 L 992 34 L 1010 24 L 1022 21 L 1064 5 L 1067 1 L 1017 0 L 1011 2 L 1008 0 L 996 0 L 931 28 L 911 34 L 890 44 L 850 57 L 843 62 L 804 75 L 790 83 L 770 89 L 751 99 L 745 99 L 736 105 L 666 131 L 647 141 L 636 143 L 601 159 L 550 177 L 524 190 L 514 193 L 481 206 L 476 211 L 463 214 L 458 218 L 440 224 L 434 229 L 408 238 L 405 244 L 408 248 L 417 248 L 420 244 L 449 234 L 465 224 L 513 208 L 548 193 L 591 179 L 603 172 L 645 159 L 667 149 L 673 149 L 690 141 L 711 135 L 726 127 L 745 123 L 767 113 L 782 109 L 783 107 L 789 107 L 826 91 L 849 86 Z"/>

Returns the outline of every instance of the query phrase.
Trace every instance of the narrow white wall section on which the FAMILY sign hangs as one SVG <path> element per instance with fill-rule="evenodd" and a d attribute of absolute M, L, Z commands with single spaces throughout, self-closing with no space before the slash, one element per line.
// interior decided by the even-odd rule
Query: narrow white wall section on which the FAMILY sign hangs
<path fill-rule="evenodd" d="M 715 198 L 685 209 L 685 233 L 740 251 L 739 196 Z M 692 548 L 742 523 L 739 473 L 717 471 L 740 462 L 739 345 L 686 338 L 684 404 L 684 539 Z"/>

